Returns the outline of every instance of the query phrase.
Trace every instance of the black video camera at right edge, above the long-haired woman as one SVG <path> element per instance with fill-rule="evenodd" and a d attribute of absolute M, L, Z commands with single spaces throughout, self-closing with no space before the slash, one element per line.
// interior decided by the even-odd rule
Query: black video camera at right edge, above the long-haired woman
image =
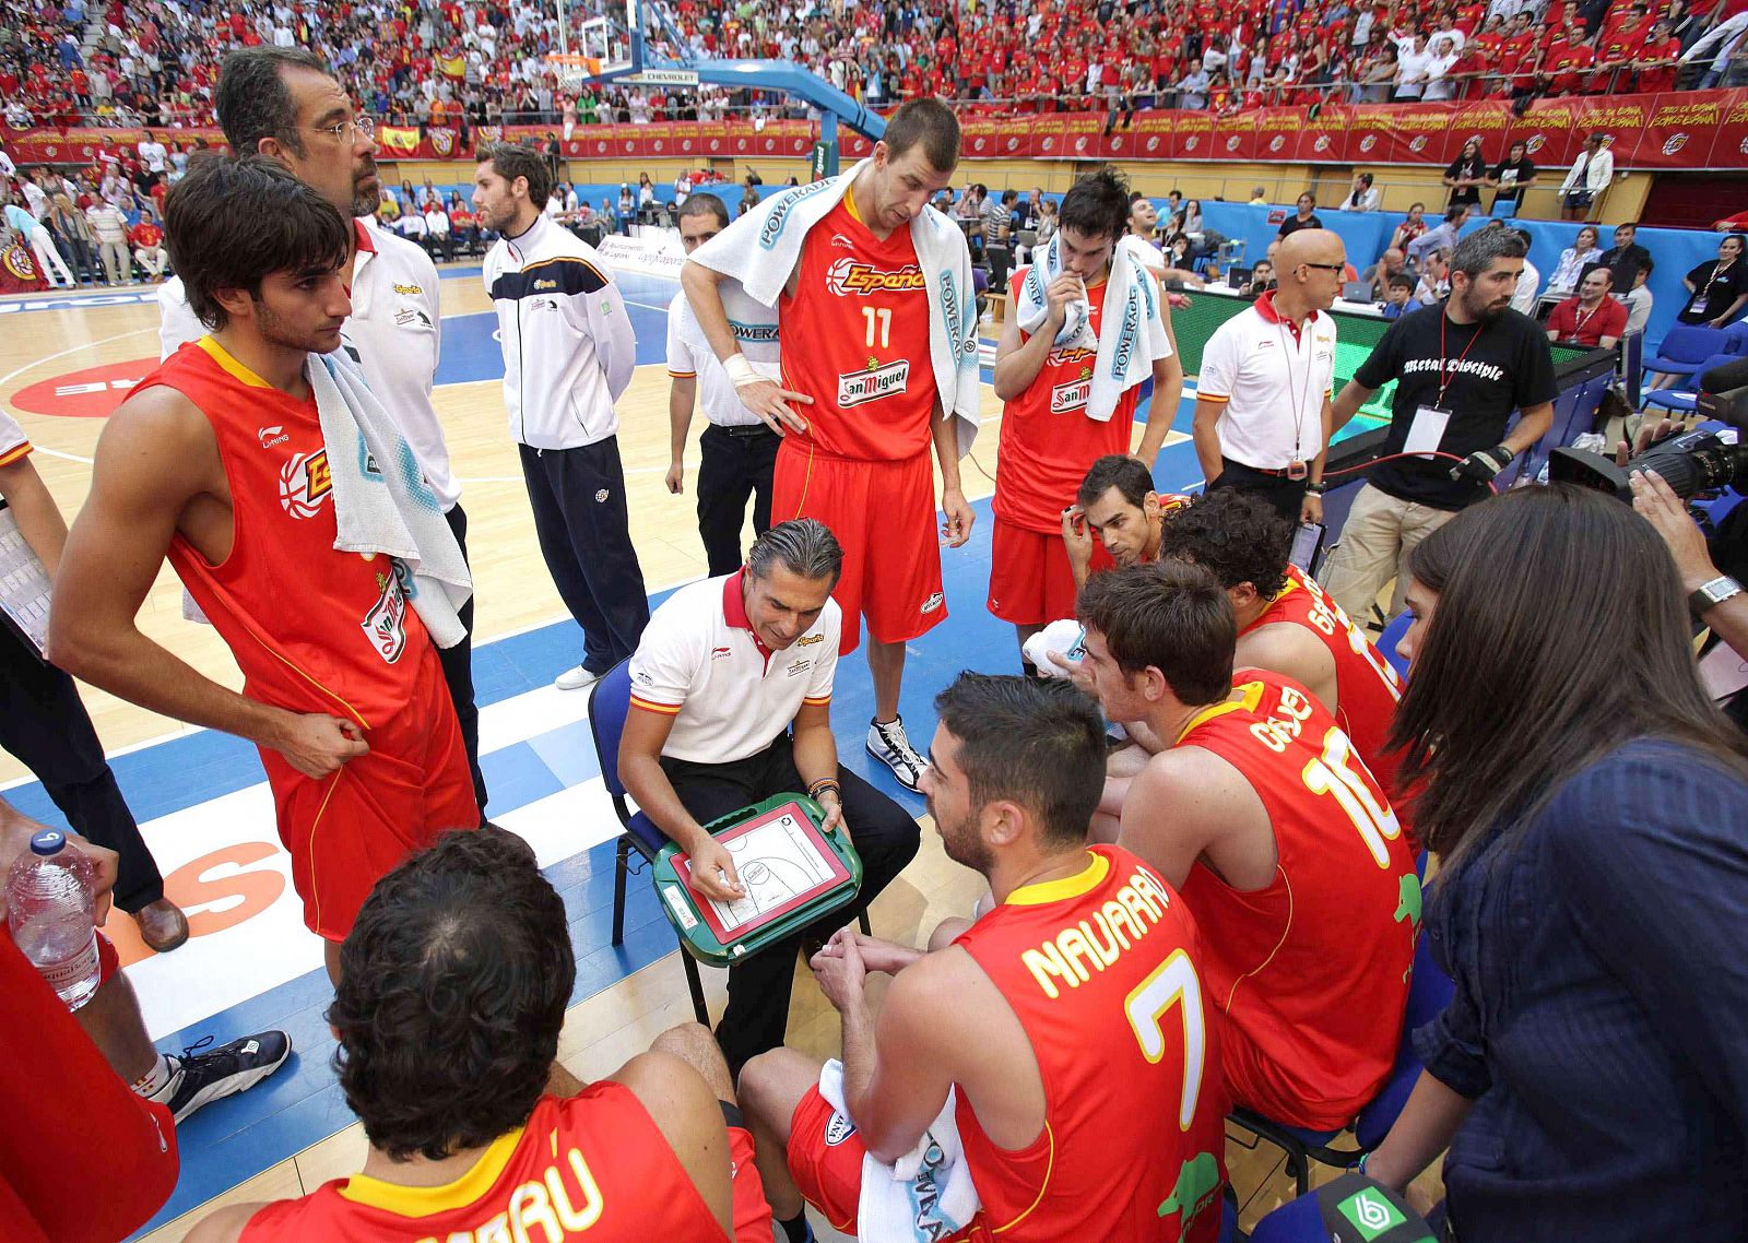
<path fill-rule="evenodd" d="M 1694 411 L 1738 432 L 1748 430 L 1748 358 L 1701 376 Z M 1554 449 L 1547 462 L 1549 479 L 1608 491 L 1627 503 L 1633 503 L 1634 470 L 1655 470 L 1682 500 L 1718 488 L 1748 491 L 1748 444 L 1727 444 L 1717 432 L 1682 432 L 1650 444 L 1624 467 L 1587 449 Z"/>

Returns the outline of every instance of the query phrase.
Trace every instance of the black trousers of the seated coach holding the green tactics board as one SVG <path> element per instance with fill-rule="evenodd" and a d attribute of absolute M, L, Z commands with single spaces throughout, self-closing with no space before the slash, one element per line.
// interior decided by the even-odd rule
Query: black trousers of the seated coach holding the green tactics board
<path fill-rule="evenodd" d="M 787 733 L 778 734 L 757 755 L 732 764 L 694 764 L 664 755 L 661 766 L 680 802 L 699 823 L 710 823 L 773 794 L 806 792 Z M 837 767 L 837 781 L 843 785 L 844 825 L 862 858 L 862 892 L 851 906 L 834 911 L 813 928 L 767 946 L 729 969 L 729 1007 L 717 1024 L 717 1044 L 736 1077 L 752 1058 L 783 1044 L 795 955 L 802 939 L 813 935 L 823 941 L 853 923 L 874 895 L 916 857 L 919 837 L 909 811 L 843 766 Z"/>

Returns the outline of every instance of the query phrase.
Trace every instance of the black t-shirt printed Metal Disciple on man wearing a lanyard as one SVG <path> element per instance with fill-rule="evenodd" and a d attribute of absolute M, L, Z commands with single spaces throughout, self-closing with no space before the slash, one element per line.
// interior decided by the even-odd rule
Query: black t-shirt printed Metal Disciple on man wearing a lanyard
<path fill-rule="evenodd" d="M 1440 358 L 1451 379 L 1442 402 Z M 1550 402 L 1557 392 L 1547 330 L 1540 323 L 1517 311 L 1500 311 L 1482 323 L 1451 323 L 1442 302 L 1391 323 L 1353 378 L 1365 388 L 1397 381 L 1383 456 L 1402 453 L 1421 406 L 1451 411 L 1439 451 L 1465 458 L 1503 441 L 1512 411 Z M 1433 509 L 1461 509 L 1482 500 L 1488 488 L 1451 479 L 1454 465 L 1449 458 L 1400 458 L 1372 467 L 1369 477 L 1391 497 Z"/>

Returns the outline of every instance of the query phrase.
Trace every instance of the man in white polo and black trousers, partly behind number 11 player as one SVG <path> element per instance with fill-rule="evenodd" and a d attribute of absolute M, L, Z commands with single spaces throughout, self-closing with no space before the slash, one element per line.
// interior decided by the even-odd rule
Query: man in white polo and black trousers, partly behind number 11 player
<path fill-rule="evenodd" d="M 692 253 L 729 227 L 729 208 L 715 194 L 692 194 L 680 208 L 680 245 Z M 746 295 L 722 285 L 724 302 Z M 729 327 L 746 360 L 778 371 L 778 343 L 773 325 L 752 315 L 731 315 Z M 692 407 L 703 400 L 710 427 L 697 437 L 697 533 L 704 540 L 710 577 L 734 573 L 741 563 L 741 526 L 746 523 L 746 498 L 753 497 L 753 535 L 771 526 L 771 476 L 783 437 L 746 409 L 739 390 L 722 369 L 704 330 L 692 315 L 685 294 L 668 304 L 668 427 L 671 455 L 668 491 L 685 491 L 685 437 L 692 427 Z"/>

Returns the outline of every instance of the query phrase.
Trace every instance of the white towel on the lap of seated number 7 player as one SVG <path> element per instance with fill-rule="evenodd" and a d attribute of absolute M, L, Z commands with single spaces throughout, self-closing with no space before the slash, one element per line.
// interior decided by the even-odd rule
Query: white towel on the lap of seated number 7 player
<path fill-rule="evenodd" d="M 960 1147 L 960 1124 L 947 1103 L 928 1124 L 916 1147 L 890 1166 L 862 1157 L 862 1199 L 857 1203 L 857 1238 L 862 1243 L 932 1243 L 965 1229 L 982 1208 L 972 1170 Z M 844 1108 L 844 1063 L 836 1058 L 820 1068 L 820 1096 L 836 1110 L 832 1126 L 851 1122 Z"/>

